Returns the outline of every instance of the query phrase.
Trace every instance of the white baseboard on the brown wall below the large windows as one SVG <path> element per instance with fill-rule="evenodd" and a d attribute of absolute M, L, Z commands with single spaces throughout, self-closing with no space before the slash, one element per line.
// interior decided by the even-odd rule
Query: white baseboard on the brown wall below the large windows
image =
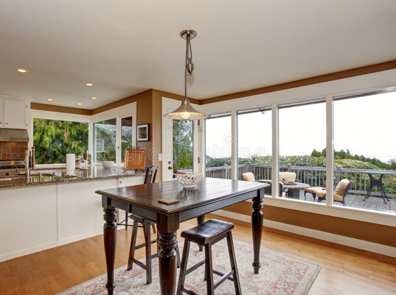
<path fill-rule="evenodd" d="M 217 210 L 212 212 L 212 214 L 216 214 L 219 216 L 224 216 L 228 218 L 232 218 L 235 220 L 240 220 L 240 221 L 245 221 L 250 223 L 251 218 L 248 215 L 244 214 L 239 214 L 239 213 L 233 213 L 225 210 Z M 382 245 L 378 243 L 373 243 L 353 237 L 348 237 L 348 236 L 340 236 L 340 235 L 335 235 L 327 232 L 322 232 L 322 231 L 317 231 L 317 230 L 312 230 L 312 229 L 307 229 L 303 227 L 298 227 L 295 225 L 290 225 L 286 223 L 281 223 L 281 222 L 276 222 L 272 220 L 267 220 L 264 219 L 264 226 L 268 228 L 273 228 L 289 233 L 294 233 L 297 235 L 302 235 L 302 236 L 310 236 L 322 240 L 326 240 L 329 242 L 333 243 L 338 243 L 341 245 L 357 248 L 357 249 L 362 249 L 374 253 L 379 253 L 391 257 L 396 258 L 396 247 L 391 247 L 387 245 Z"/>

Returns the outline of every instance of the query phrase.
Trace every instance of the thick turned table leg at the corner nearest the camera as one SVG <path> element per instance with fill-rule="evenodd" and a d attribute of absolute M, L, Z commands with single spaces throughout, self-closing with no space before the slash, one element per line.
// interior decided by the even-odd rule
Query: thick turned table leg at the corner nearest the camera
<path fill-rule="evenodd" d="M 161 295 L 174 295 L 176 290 L 177 232 L 179 215 L 163 215 L 157 213 L 157 230 L 159 235 L 159 285 Z"/>

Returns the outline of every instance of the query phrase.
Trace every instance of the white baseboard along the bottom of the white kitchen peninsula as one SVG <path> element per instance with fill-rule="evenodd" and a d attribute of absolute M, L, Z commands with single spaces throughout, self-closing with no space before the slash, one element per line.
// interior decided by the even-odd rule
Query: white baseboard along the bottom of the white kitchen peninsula
<path fill-rule="evenodd" d="M 47 249 L 50 249 L 50 248 L 54 248 L 54 247 L 57 247 L 57 246 L 61 246 L 61 245 L 64 245 L 64 244 L 75 242 L 75 241 L 78 241 L 78 240 L 81 240 L 81 239 L 85 239 L 85 238 L 89 238 L 89 237 L 93 237 L 93 236 L 99 236 L 99 235 L 102 235 L 102 234 L 103 234 L 103 231 L 95 231 L 95 232 L 87 233 L 87 234 L 84 234 L 84 235 L 72 236 L 72 237 L 68 237 L 68 238 L 65 238 L 65 239 L 61 239 L 59 241 L 53 241 L 53 242 L 37 245 L 37 246 L 31 247 L 31 248 L 25 248 L 25 249 L 22 249 L 22 250 L 17 250 L 17 251 L 14 251 L 14 252 L 2 254 L 2 255 L 0 255 L 0 262 L 5 261 L 5 260 L 9 260 L 9 259 L 13 259 L 13 258 L 16 258 L 16 257 L 32 254 L 32 253 L 35 253 L 35 252 L 47 250 Z"/>

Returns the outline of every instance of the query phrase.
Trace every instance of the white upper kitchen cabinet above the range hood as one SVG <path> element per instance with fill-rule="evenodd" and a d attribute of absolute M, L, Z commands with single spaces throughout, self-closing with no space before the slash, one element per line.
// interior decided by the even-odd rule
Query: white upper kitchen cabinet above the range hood
<path fill-rule="evenodd" d="M 1 99 L 1 120 L 3 128 L 27 129 L 25 101 L 17 99 Z"/>

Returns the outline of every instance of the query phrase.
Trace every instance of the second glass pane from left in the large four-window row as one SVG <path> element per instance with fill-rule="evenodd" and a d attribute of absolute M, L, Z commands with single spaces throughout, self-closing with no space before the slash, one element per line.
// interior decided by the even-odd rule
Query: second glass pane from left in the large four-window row
<path fill-rule="evenodd" d="M 238 112 L 238 179 L 253 173 L 270 180 L 272 172 L 272 112 L 270 108 Z M 265 194 L 271 194 L 268 188 Z"/>

